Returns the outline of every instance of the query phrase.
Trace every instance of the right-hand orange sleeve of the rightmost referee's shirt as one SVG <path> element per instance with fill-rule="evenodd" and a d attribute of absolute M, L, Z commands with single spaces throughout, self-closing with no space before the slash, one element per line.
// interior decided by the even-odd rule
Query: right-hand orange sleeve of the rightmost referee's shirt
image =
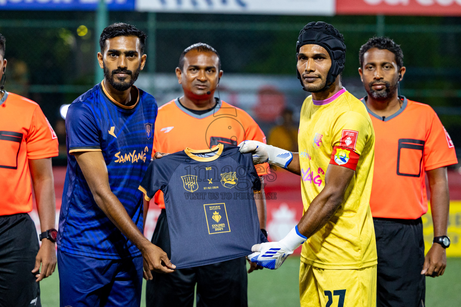
<path fill-rule="evenodd" d="M 458 163 L 455 145 L 434 110 L 424 145 L 424 169 L 431 170 Z"/>

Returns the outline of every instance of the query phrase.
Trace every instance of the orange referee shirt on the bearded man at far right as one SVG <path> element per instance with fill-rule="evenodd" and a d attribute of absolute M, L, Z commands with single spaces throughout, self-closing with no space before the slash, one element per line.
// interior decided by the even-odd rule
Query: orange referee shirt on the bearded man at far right
<path fill-rule="evenodd" d="M 367 110 L 376 139 L 372 216 L 418 219 L 427 212 L 425 171 L 458 163 L 455 146 L 427 104 L 403 97 L 402 108 L 384 120 Z"/>

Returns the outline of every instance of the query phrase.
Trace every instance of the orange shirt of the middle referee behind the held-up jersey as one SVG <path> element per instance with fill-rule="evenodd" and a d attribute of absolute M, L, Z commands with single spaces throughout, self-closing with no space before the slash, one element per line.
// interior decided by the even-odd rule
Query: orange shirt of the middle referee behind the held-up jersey
<path fill-rule="evenodd" d="M 244 110 L 221 101 L 207 113 L 197 115 L 174 99 L 159 108 L 152 152 L 172 153 L 186 147 L 210 149 L 219 144 L 236 146 L 246 139 L 266 143 L 266 136 Z M 270 172 L 267 163 L 255 167 L 260 176 Z M 165 208 L 162 191 L 155 194 L 154 201 Z"/>

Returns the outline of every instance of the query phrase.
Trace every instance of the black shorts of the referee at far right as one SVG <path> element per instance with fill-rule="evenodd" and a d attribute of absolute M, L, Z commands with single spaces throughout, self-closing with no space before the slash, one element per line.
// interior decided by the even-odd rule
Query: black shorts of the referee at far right
<path fill-rule="evenodd" d="M 421 218 L 373 218 L 378 251 L 377 307 L 424 307 L 426 276 Z"/>

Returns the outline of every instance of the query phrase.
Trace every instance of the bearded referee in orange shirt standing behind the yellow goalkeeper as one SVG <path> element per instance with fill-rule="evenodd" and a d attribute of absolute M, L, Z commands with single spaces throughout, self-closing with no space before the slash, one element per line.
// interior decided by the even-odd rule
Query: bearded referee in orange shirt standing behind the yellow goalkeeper
<path fill-rule="evenodd" d="M 375 130 L 370 198 L 378 251 L 377 307 L 424 307 L 426 276 L 443 275 L 449 247 L 447 166 L 455 147 L 427 104 L 398 96 L 405 74 L 399 45 L 373 37 L 360 48 L 362 98 Z M 434 239 L 424 256 L 421 215 L 427 212 L 427 174 Z"/>

